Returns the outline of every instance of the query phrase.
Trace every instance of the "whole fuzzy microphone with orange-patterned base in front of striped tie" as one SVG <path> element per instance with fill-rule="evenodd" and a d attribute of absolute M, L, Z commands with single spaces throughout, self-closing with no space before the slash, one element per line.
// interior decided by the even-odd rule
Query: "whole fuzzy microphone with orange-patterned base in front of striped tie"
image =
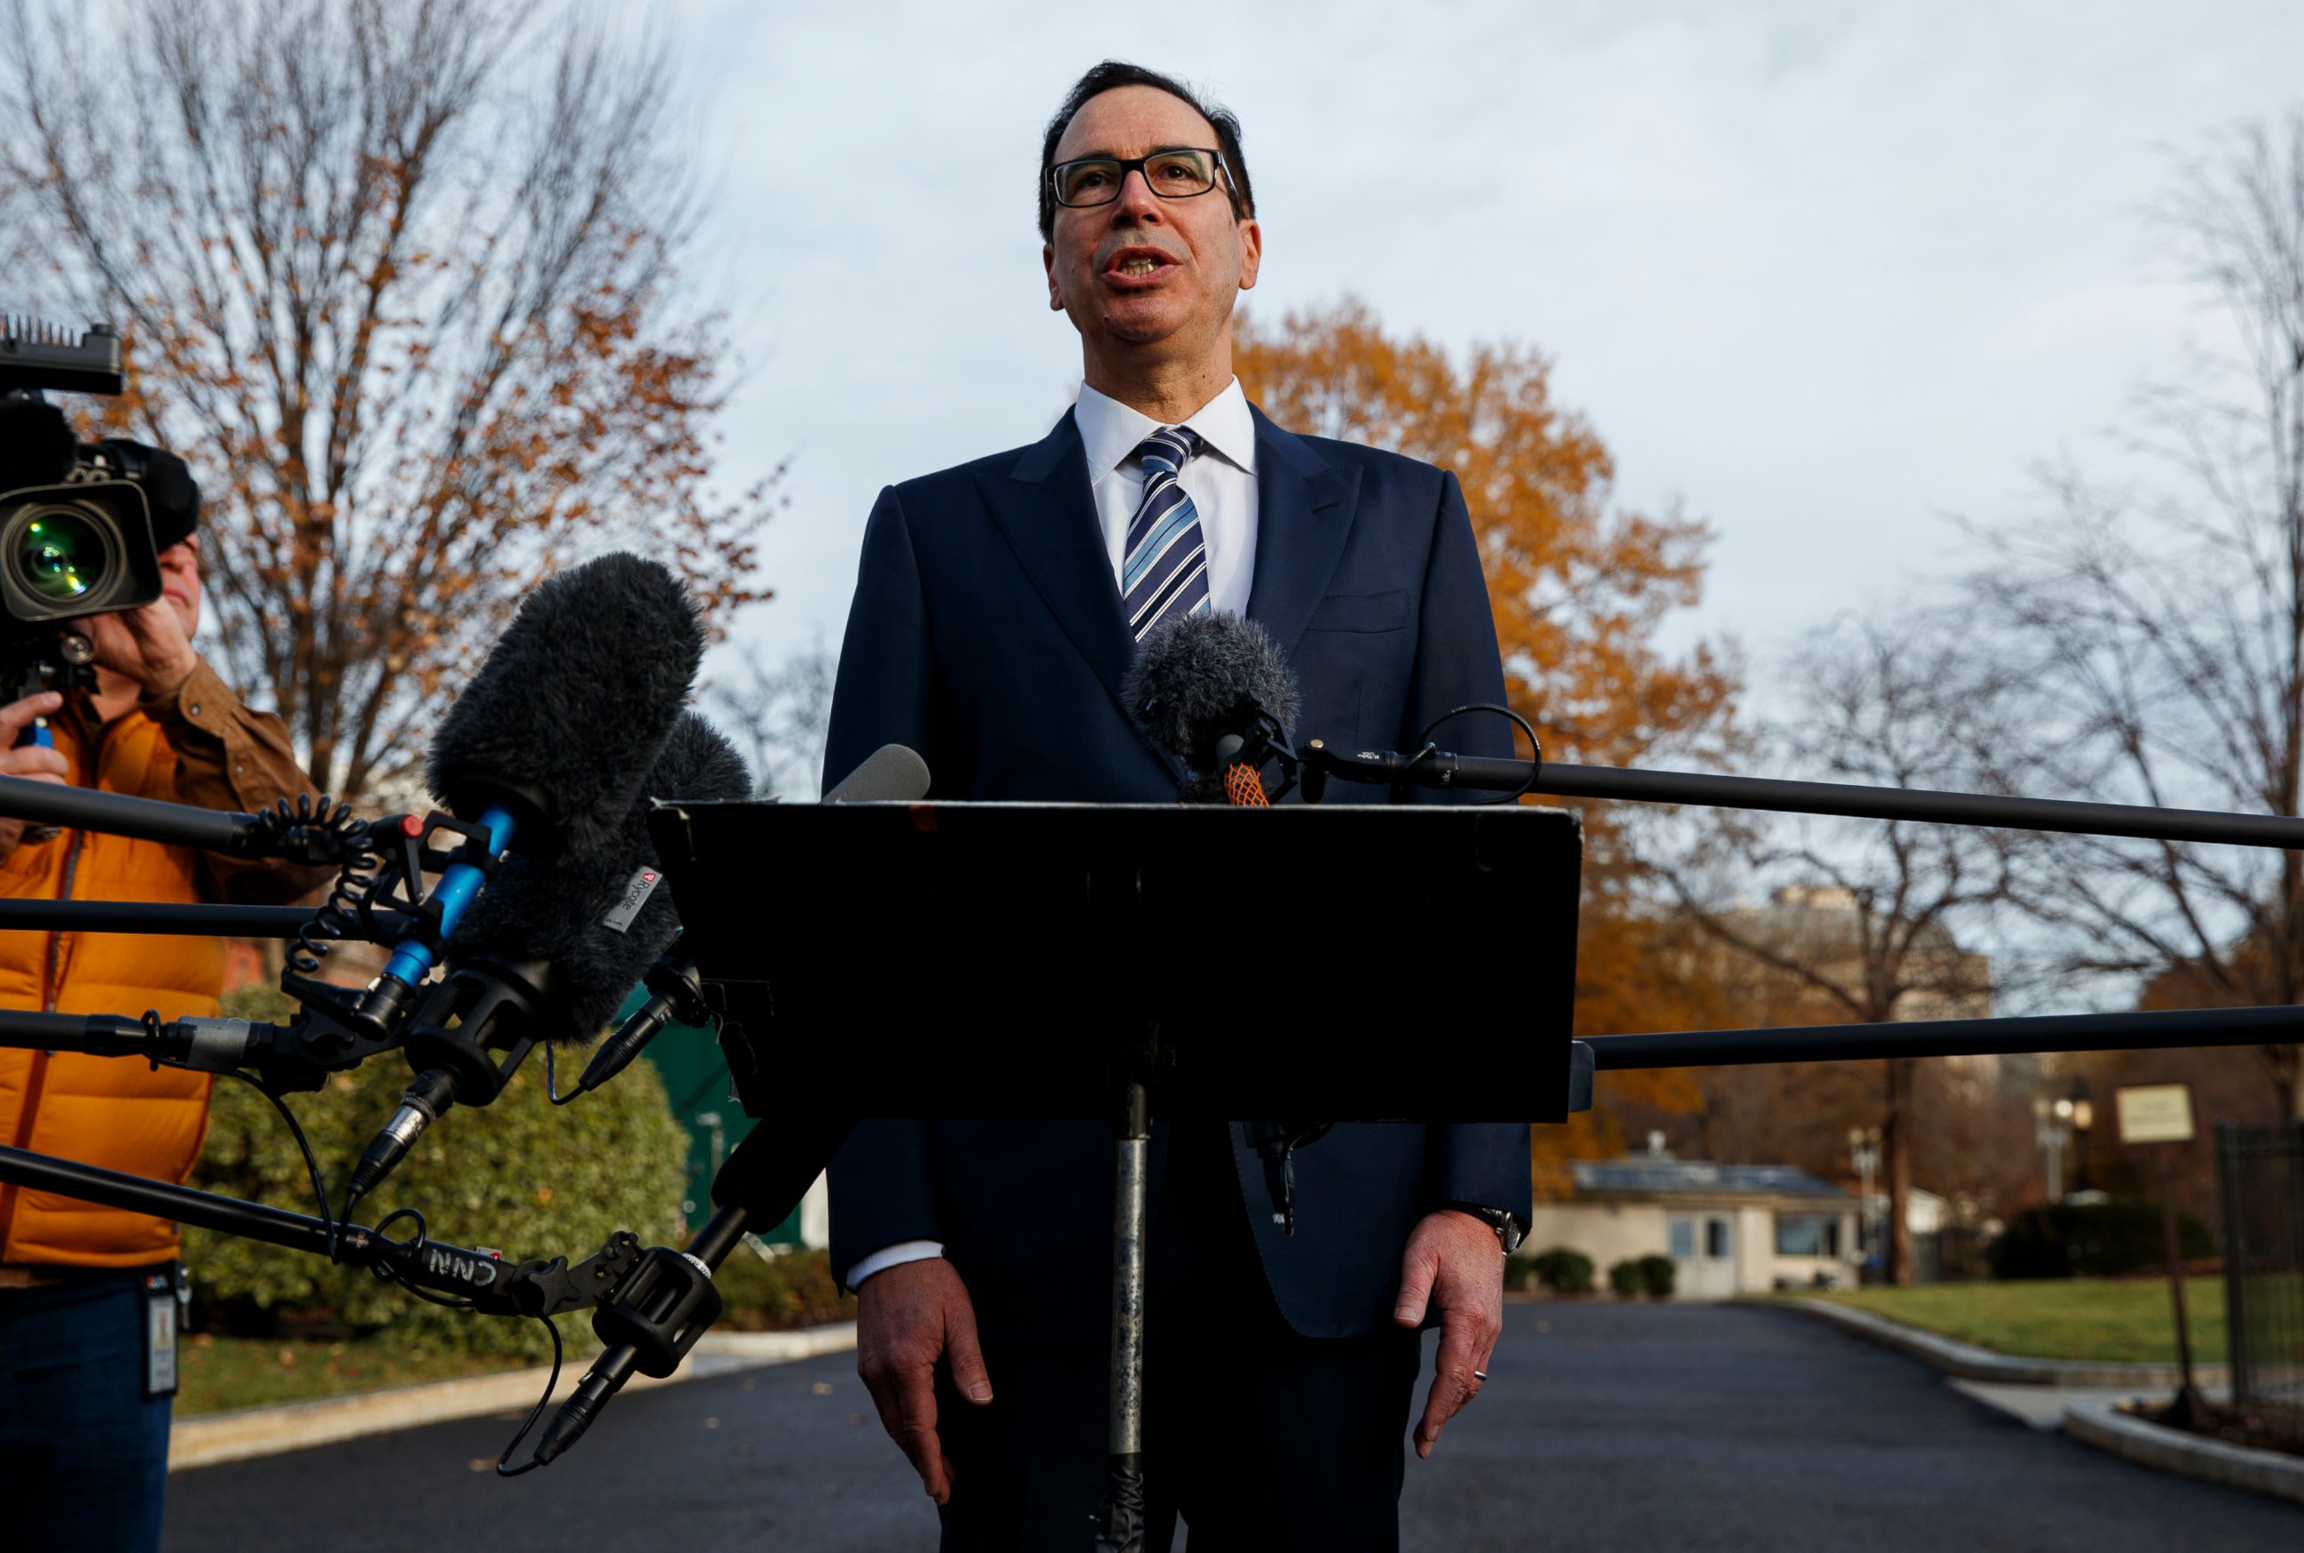
<path fill-rule="evenodd" d="M 1299 710 L 1279 643 L 1228 611 L 1159 624 L 1120 677 L 1120 703 L 1154 749 L 1184 763 L 1187 804 L 1267 804 L 1260 767 L 1288 749 Z"/>

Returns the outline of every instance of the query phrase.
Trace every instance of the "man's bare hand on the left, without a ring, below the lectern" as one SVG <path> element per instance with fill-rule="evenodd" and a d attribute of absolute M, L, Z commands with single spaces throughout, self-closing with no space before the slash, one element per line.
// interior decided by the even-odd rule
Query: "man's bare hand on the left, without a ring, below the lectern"
<path fill-rule="evenodd" d="M 977 1346 L 977 1306 L 942 1256 L 896 1263 L 857 1288 L 857 1373 L 880 1408 L 880 1426 L 919 1472 L 919 1486 L 942 1505 L 952 1498 L 952 1463 L 935 1438 L 935 1362 L 979 1408 L 993 1399 Z"/>

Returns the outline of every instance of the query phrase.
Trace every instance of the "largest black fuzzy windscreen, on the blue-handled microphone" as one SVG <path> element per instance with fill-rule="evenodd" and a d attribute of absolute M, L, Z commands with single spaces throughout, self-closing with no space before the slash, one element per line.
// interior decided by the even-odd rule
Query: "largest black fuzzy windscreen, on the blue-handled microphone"
<path fill-rule="evenodd" d="M 511 811 L 514 850 L 588 853 L 624 823 L 703 654 L 703 618 L 664 565 L 601 555 L 562 571 L 449 707 L 426 781 L 458 818 Z"/>

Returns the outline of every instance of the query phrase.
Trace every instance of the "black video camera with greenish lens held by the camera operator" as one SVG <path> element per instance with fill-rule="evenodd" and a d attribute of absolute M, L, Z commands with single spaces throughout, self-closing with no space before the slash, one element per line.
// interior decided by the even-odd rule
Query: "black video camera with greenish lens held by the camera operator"
<path fill-rule="evenodd" d="M 161 597 L 159 553 L 187 539 L 200 486 L 175 454 L 81 442 L 41 392 L 120 394 L 120 336 L 0 318 L 0 703 L 92 694 L 90 615 Z M 25 742 L 46 742 L 32 728 Z"/>

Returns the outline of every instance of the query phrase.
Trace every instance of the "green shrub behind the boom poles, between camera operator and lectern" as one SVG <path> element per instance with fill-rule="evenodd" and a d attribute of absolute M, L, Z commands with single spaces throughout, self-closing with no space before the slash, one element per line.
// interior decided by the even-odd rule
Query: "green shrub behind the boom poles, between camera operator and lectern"
<path fill-rule="evenodd" d="M 274 988 L 249 988 L 226 1002 L 226 1012 L 242 1018 L 286 1018 L 295 1009 Z M 359 1219 L 376 1224 L 394 1207 L 415 1207 L 435 1240 L 502 1247 L 507 1260 L 567 1256 L 576 1263 L 620 1228 L 636 1233 L 641 1244 L 673 1244 L 689 1138 L 673 1120 L 654 1065 L 634 1062 L 615 1083 L 567 1108 L 548 1104 L 541 1065 L 544 1055 L 535 1053 L 495 1104 L 452 1111 L 429 1129 L 362 1203 Z M 562 1074 L 567 1078 L 571 1074 Z M 332 1205 L 406 1085 L 408 1065 L 385 1055 L 334 1074 L 316 1094 L 288 1097 Z M 217 1081 L 207 1147 L 191 1184 L 313 1212 L 295 1138 L 263 1094 L 230 1078 Z M 392 1233 L 406 1235 L 408 1221 Z M 389 1329 L 394 1343 L 417 1353 L 551 1357 L 551 1339 L 535 1320 L 449 1311 L 306 1251 L 187 1230 L 184 1265 L 203 1316 L 230 1329 Z M 585 1313 L 562 1318 L 560 1334 L 571 1350 L 592 1346 Z"/>

